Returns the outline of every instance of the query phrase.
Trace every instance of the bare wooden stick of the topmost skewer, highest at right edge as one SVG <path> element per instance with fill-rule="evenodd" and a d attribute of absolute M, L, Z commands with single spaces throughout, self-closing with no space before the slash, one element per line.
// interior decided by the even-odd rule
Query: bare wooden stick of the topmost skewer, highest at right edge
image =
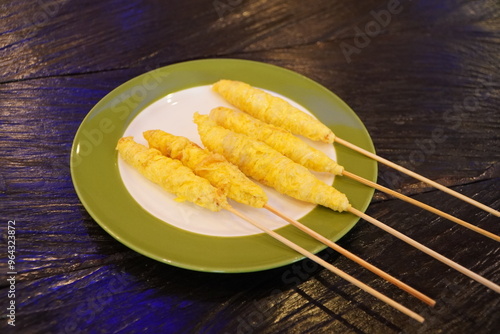
<path fill-rule="evenodd" d="M 420 174 L 412 172 L 411 170 L 406 169 L 406 168 L 404 168 L 404 167 L 402 167 L 402 166 L 400 166 L 398 164 L 395 164 L 395 163 L 393 163 L 393 162 L 391 162 L 391 161 L 389 161 L 387 159 L 384 159 L 384 158 L 382 158 L 382 157 L 380 157 L 380 156 L 378 156 L 376 154 L 368 152 L 367 150 L 364 150 L 361 147 L 358 147 L 358 146 L 356 146 L 354 144 L 351 144 L 351 143 L 349 143 L 349 142 L 347 142 L 347 141 L 345 141 L 345 140 L 343 140 L 343 139 L 341 139 L 339 137 L 335 137 L 335 142 L 337 142 L 337 143 L 339 143 L 341 145 L 344 145 L 344 146 L 346 146 L 346 147 L 348 147 L 348 148 L 350 148 L 350 149 L 352 149 L 352 150 L 354 150 L 356 152 L 359 152 L 359 153 L 361 153 L 363 155 L 366 155 L 367 157 L 369 157 L 371 159 L 374 159 L 374 160 L 376 160 L 378 162 L 381 162 L 381 163 L 383 163 L 383 164 L 385 164 L 385 165 L 387 165 L 389 167 L 392 167 L 392 168 L 394 168 L 394 169 L 396 169 L 396 170 L 398 170 L 398 171 L 400 171 L 402 173 L 410 175 L 410 176 L 416 178 L 417 180 L 425 182 L 425 183 L 427 183 L 427 184 L 429 184 L 429 185 L 431 185 L 431 186 L 433 186 L 433 187 L 435 187 L 435 188 L 437 188 L 437 189 L 439 189 L 441 191 L 444 191 L 445 193 L 448 193 L 448 194 L 450 194 L 452 196 L 460 198 L 461 200 L 463 200 L 463 201 L 465 201 L 465 202 L 467 202 L 469 204 L 472 204 L 474 206 L 477 206 L 478 208 L 481 208 L 481 209 L 483 209 L 483 210 L 485 210 L 485 211 L 487 211 L 487 212 L 489 212 L 489 213 L 491 213 L 491 214 L 493 214 L 493 215 L 495 215 L 497 217 L 500 217 L 500 211 L 495 210 L 493 208 L 490 208 L 489 206 L 486 206 L 486 205 L 484 205 L 482 203 L 479 203 L 478 201 L 476 201 L 476 200 L 474 200 L 474 199 L 472 199 L 470 197 L 462 195 L 462 194 L 460 194 L 460 193 L 458 193 L 458 192 L 456 192 L 456 191 L 454 191 L 454 190 L 452 190 L 450 188 L 447 188 L 447 187 L 445 187 L 445 186 L 443 186 L 443 185 L 441 185 L 441 184 L 439 184 L 437 182 L 434 182 L 434 181 L 432 181 L 432 180 L 430 180 L 430 179 L 428 179 L 428 178 L 426 178 L 426 177 L 424 177 L 424 176 L 422 176 Z"/>

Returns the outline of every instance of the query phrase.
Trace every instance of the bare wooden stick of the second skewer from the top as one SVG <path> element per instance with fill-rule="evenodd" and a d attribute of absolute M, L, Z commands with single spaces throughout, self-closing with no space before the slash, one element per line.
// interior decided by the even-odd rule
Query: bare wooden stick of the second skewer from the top
<path fill-rule="evenodd" d="M 372 182 L 372 181 L 370 181 L 370 180 L 367 180 L 367 179 L 365 179 L 365 178 L 362 178 L 361 176 L 358 176 L 358 175 L 356 175 L 356 174 L 350 173 L 350 172 L 348 172 L 348 171 L 343 171 L 343 172 L 342 172 L 342 175 L 347 176 L 347 177 L 349 177 L 349 178 L 351 178 L 351 179 L 353 179 L 353 180 L 356 180 L 356 181 L 358 181 L 358 182 L 360 182 L 360 183 L 363 183 L 363 184 L 365 184 L 365 185 L 367 185 L 367 186 L 369 186 L 369 187 L 372 187 L 372 188 L 378 189 L 378 190 L 380 190 L 380 191 L 383 191 L 383 192 L 385 192 L 385 193 L 387 193 L 387 194 L 389 194 L 389 195 L 392 195 L 392 196 L 394 196 L 394 197 L 396 197 L 396 198 L 402 199 L 403 201 L 406 201 L 406 202 L 411 203 L 411 204 L 413 204 L 413 205 L 415 205 L 415 206 L 418 206 L 418 207 L 420 207 L 420 208 L 423 208 L 423 209 L 425 209 L 425 210 L 427 210 L 427 211 L 430 211 L 430 212 L 432 212 L 432 213 L 435 213 L 435 214 L 437 214 L 437 215 L 439 215 L 439 216 L 441 216 L 441 217 L 444 217 L 444 218 L 446 218 L 446 219 L 449 219 L 449 220 L 451 220 L 451 221 L 452 221 L 452 222 L 454 222 L 454 223 L 457 223 L 457 224 L 459 224 L 459 225 L 462 225 L 462 226 L 464 226 L 464 227 L 466 227 L 466 228 L 468 228 L 468 229 L 471 229 L 471 230 L 473 230 L 473 231 L 475 231 L 475 232 L 477 232 L 477 233 L 480 233 L 480 234 L 482 234 L 482 235 L 484 235 L 484 236 L 486 236 L 486 237 L 488 237 L 488 238 L 491 238 L 491 239 L 493 239 L 493 240 L 495 240 L 495 241 L 500 241 L 500 236 L 498 236 L 498 235 L 496 235 L 496 234 L 493 234 L 493 233 L 491 233 L 491 232 L 485 231 L 485 230 L 483 230 L 483 229 L 482 229 L 482 228 L 480 228 L 480 227 L 477 227 L 477 226 L 475 226 L 475 225 L 472 225 L 472 224 L 470 224 L 470 223 L 467 223 L 466 221 L 464 221 L 464 220 L 462 220 L 462 219 L 459 219 L 459 218 L 457 218 L 457 217 L 454 217 L 454 216 L 452 216 L 452 215 L 450 215 L 450 214 L 447 214 L 446 212 L 443 212 L 443 211 L 441 211 L 441 210 L 438 210 L 438 209 L 436 209 L 436 208 L 434 208 L 434 207 L 432 207 L 432 206 L 430 206 L 430 205 L 424 204 L 424 203 L 422 203 L 422 202 L 420 202 L 420 201 L 417 201 L 417 200 L 415 200 L 415 199 L 413 199 L 413 198 L 410 198 L 410 197 L 408 197 L 408 196 L 405 196 L 405 195 L 403 195 L 403 194 L 401 194 L 401 193 L 399 193 L 399 192 L 397 192 L 397 191 L 394 191 L 394 190 L 389 189 L 389 188 L 387 188 L 387 187 L 381 186 L 381 185 L 380 185 L 380 184 L 378 184 L 378 183 Z"/>

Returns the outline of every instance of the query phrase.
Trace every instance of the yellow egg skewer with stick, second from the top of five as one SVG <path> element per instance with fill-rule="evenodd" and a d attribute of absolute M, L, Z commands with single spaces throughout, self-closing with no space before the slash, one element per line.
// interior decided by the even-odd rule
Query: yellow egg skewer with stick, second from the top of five
<path fill-rule="evenodd" d="M 496 234 L 488 232 L 430 205 L 424 204 L 399 192 L 346 171 L 344 167 L 337 164 L 337 162 L 331 159 L 328 155 L 308 145 L 300 138 L 294 136 L 290 131 L 283 128 L 260 121 L 247 113 L 226 107 L 217 107 L 212 109 L 209 117 L 218 125 L 226 129 L 245 134 L 268 144 L 278 152 L 308 169 L 349 177 L 369 187 L 373 187 L 384 193 L 449 219 L 454 223 L 462 225 L 493 240 L 500 241 L 500 236 Z"/>

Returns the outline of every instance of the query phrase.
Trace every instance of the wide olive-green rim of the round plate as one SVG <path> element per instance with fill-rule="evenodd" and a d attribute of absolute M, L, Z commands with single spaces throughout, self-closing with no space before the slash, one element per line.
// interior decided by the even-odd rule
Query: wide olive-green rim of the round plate
<path fill-rule="evenodd" d="M 129 194 L 118 170 L 115 146 L 135 116 L 153 102 L 219 79 L 233 79 L 268 89 L 302 105 L 336 135 L 374 152 L 366 128 L 335 94 L 295 72 L 254 61 L 209 59 L 166 66 L 140 75 L 105 96 L 78 129 L 71 151 L 71 175 L 76 192 L 95 221 L 131 249 L 174 266 L 205 272 L 251 272 L 301 260 L 302 255 L 266 234 L 218 237 L 189 232 L 151 215 Z M 376 181 L 374 161 L 336 145 L 339 164 Z M 365 211 L 373 189 L 343 177 L 334 186 L 351 204 Z M 358 221 L 350 213 L 316 207 L 300 221 L 336 241 Z M 202 223 L 202 222 L 201 222 Z M 325 248 L 292 226 L 276 230 L 307 250 Z"/>

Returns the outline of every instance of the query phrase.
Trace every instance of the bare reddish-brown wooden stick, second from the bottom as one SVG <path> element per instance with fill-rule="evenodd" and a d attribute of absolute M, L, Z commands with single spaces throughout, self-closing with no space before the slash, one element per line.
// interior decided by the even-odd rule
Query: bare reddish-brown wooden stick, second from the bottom
<path fill-rule="evenodd" d="M 433 300 L 433 299 L 431 299 L 430 297 L 428 297 L 428 296 L 424 295 L 423 293 L 415 290 L 411 286 L 409 286 L 409 285 L 401 282 L 397 278 L 395 278 L 395 277 L 389 275 L 388 273 L 380 270 L 379 268 L 375 267 L 374 265 L 366 262 L 365 260 L 361 259 L 360 257 L 358 257 L 358 256 L 354 255 L 353 253 L 349 252 L 345 248 L 340 247 L 335 242 L 333 242 L 333 241 L 325 238 L 324 236 L 322 236 L 321 234 L 317 233 L 316 231 L 310 229 L 309 227 L 305 226 L 304 224 L 301 224 L 298 221 L 296 221 L 296 220 L 294 220 L 294 219 L 286 216 L 285 214 L 283 214 L 282 212 L 278 211 L 277 209 L 271 207 L 270 205 L 266 204 L 264 206 L 264 208 L 267 209 L 267 210 L 269 210 L 270 212 L 274 213 L 278 217 L 283 218 L 284 220 L 286 220 L 287 222 L 289 222 L 293 226 L 297 227 L 301 231 L 307 233 L 311 237 L 313 237 L 316 240 L 322 242 L 323 244 L 327 245 L 328 247 L 332 248 L 333 250 L 337 251 L 338 253 L 344 255 L 348 259 L 350 259 L 350 260 L 358 263 L 359 265 L 363 266 L 364 268 L 366 268 L 366 269 L 370 270 L 371 272 L 379 275 L 383 279 L 387 280 L 389 283 L 392 283 L 392 284 L 396 285 L 397 287 L 399 287 L 402 290 L 408 292 L 412 296 L 420 299 L 421 301 L 423 301 L 427 305 L 434 306 L 436 304 L 436 301 Z"/>

